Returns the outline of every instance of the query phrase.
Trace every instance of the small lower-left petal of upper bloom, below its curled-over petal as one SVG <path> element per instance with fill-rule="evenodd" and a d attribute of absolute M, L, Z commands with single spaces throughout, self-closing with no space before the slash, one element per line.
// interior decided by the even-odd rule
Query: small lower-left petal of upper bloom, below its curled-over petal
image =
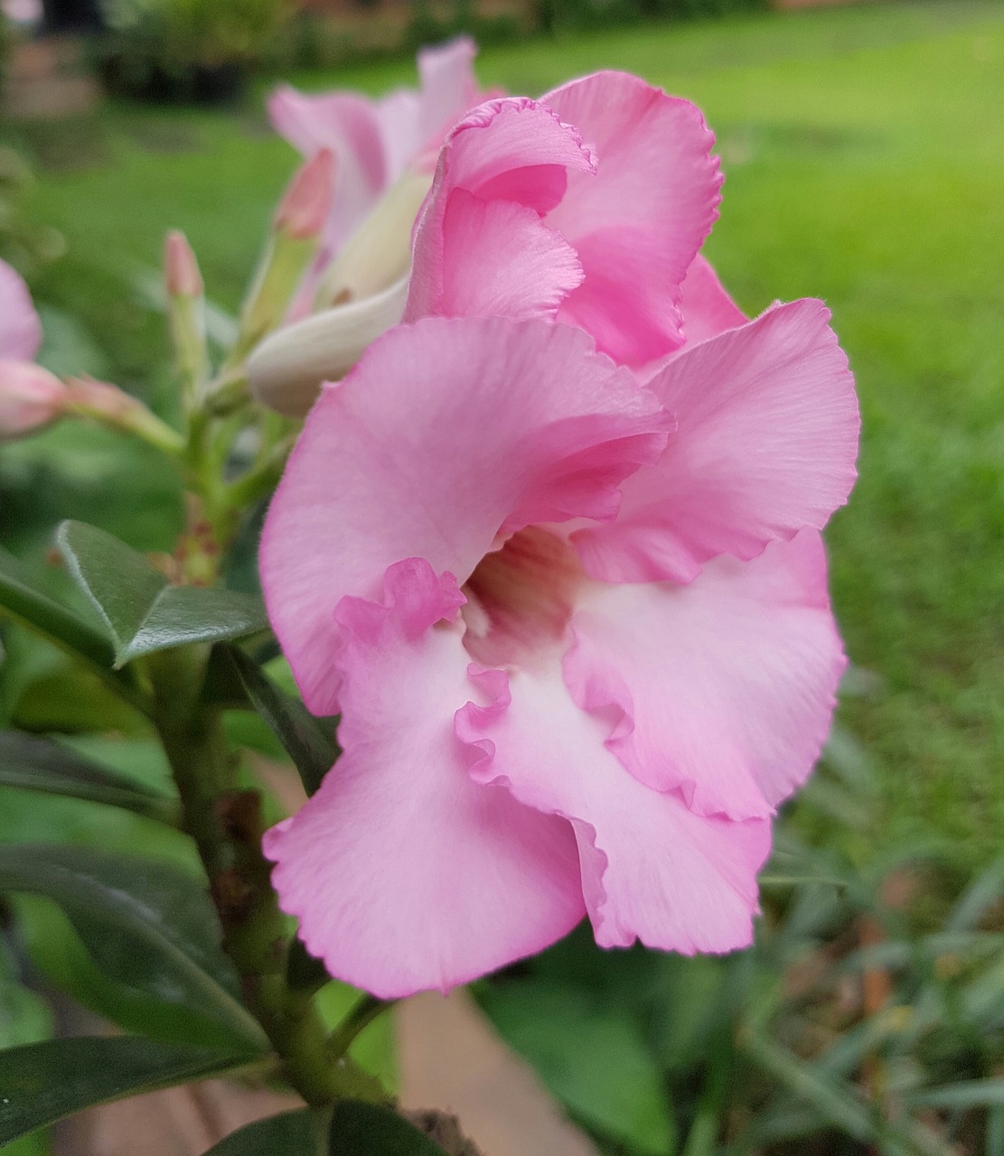
<path fill-rule="evenodd" d="M 442 229 L 441 277 L 412 275 L 407 307 L 413 318 L 553 320 L 582 281 L 575 250 L 515 201 L 482 201 L 455 188 Z"/>

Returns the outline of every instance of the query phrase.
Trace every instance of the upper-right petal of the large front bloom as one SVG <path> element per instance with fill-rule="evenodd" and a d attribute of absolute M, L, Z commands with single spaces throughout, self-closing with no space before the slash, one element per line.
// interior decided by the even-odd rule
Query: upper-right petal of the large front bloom
<path fill-rule="evenodd" d="M 618 520 L 573 535 L 604 581 L 691 581 L 719 554 L 821 529 L 854 486 L 859 417 L 818 301 L 769 309 L 686 349 L 647 381 L 679 423 L 623 487 Z"/>

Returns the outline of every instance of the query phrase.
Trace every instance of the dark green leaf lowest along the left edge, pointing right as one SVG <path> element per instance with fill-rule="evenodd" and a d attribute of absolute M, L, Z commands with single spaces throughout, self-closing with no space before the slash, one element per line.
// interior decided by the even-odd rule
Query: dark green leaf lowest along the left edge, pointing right
<path fill-rule="evenodd" d="M 51 1039 L 0 1052 L 0 1144 L 94 1104 L 243 1067 L 254 1057 L 138 1036 Z"/>

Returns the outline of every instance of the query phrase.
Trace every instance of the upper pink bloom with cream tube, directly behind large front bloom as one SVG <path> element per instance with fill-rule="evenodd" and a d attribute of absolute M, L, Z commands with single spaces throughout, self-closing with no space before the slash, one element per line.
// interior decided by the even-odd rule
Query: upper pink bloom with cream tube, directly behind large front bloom
<path fill-rule="evenodd" d="M 713 144 L 693 104 L 623 73 L 479 105 L 440 153 L 409 282 L 267 339 L 252 388 L 303 416 L 401 314 L 559 320 L 638 369 L 743 324 L 697 257 L 719 201 Z"/>

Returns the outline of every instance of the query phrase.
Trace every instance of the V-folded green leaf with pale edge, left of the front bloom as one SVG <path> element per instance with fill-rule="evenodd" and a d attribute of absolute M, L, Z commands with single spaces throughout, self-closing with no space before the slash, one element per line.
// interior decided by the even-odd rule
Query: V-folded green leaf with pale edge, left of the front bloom
<path fill-rule="evenodd" d="M 239 638 L 268 625 L 260 599 L 216 587 L 171 586 L 141 554 L 96 526 L 65 521 L 57 541 L 109 629 L 117 668 L 140 654 Z"/>

